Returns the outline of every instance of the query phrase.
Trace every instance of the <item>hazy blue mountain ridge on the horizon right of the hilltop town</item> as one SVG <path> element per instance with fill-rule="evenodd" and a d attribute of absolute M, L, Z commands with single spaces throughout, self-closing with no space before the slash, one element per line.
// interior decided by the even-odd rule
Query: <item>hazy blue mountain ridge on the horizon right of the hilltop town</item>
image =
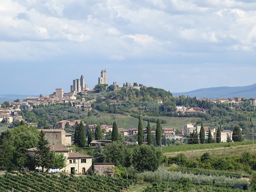
<path fill-rule="evenodd" d="M 185 95 L 197 98 L 232 98 L 232 97 L 245 97 L 247 99 L 256 98 L 256 84 L 242 86 L 242 87 L 212 87 L 197 89 L 189 92 L 172 93 L 173 96 Z"/>

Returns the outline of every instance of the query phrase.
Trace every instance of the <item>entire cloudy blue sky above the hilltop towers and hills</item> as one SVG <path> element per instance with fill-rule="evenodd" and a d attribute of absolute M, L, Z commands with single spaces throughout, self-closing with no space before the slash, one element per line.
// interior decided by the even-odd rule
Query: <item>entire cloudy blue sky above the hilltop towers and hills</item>
<path fill-rule="evenodd" d="M 0 1 L 0 94 L 108 84 L 186 92 L 256 83 L 254 0 Z"/>

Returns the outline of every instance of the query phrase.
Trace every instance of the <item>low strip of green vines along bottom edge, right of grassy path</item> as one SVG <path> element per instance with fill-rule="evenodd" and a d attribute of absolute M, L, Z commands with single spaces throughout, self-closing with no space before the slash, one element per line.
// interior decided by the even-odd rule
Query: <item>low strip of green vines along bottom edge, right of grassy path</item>
<path fill-rule="evenodd" d="M 231 189 L 223 187 L 214 187 L 209 185 L 194 185 L 194 184 L 182 184 L 175 182 L 161 182 L 160 184 L 153 183 L 153 186 L 147 186 L 143 192 L 242 192 L 240 189 Z"/>

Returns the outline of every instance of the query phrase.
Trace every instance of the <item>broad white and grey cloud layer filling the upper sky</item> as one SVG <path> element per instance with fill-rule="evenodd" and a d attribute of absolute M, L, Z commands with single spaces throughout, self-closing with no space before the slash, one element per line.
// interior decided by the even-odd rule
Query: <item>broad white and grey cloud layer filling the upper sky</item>
<path fill-rule="evenodd" d="M 255 9 L 243 0 L 7 0 L 0 3 L 0 41 L 54 44 L 48 56 L 65 50 L 115 60 L 254 51 Z"/>

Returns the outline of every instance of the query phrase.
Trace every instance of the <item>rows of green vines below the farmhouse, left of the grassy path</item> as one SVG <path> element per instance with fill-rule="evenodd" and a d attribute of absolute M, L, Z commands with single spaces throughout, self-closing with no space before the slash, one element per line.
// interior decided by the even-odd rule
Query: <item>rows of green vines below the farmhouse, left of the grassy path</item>
<path fill-rule="evenodd" d="M 120 192 L 134 184 L 129 179 L 104 176 L 66 176 L 49 174 L 6 173 L 0 176 L 0 191 L 8 192 Z"/>

